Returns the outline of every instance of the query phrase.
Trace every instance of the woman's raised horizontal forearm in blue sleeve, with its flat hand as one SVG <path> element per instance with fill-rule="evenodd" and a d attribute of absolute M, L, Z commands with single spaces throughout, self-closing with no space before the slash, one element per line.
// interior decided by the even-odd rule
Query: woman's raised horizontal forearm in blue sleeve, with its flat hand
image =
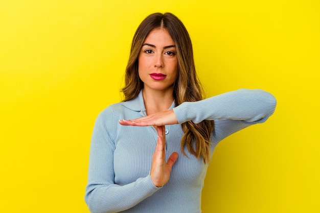
<path fill-rule="evenodd" d="M 234 120 L 244 125 L 265 122 L 275 111 L 277 101 L 261 89 L 239 89 L 197 102 L 185 102 L 171 110 L 135 120 L 121 120 L 121 125 L 162 126 L 187 121 Z"/>

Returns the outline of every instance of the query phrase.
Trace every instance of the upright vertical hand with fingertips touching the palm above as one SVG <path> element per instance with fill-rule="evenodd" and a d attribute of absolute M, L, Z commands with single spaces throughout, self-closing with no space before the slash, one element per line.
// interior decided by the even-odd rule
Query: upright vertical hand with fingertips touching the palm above
<path fill-rule="evenodd" d="M 158 140 L 152 156 L 150 177 L 155 186 L 161 187 L 168 182 L 172 165 L 177 160 L 178 153 L 172 153 L 166 163 L 165 126 L 158 126 L 157 133 Z"/>

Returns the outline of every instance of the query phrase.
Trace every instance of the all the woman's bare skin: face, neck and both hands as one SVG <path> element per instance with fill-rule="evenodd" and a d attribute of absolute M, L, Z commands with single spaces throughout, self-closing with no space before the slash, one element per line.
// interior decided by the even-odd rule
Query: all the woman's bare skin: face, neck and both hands
<path fill-rule="evenodd" d="M 169 180 L 172 165 L 178 153 L 174 152 L 166 162 L 165 125 L 178 124 L 173 110 L 173 83 L 177 77 L 175 43 L 164 28 L 152 30 L 146 37 L 139 54 L 139 77 L 144 82 L 143 97 L 147 116 L 134 120 L 120 120 L 124 126 L 154 126 L 157 143 L 152 156 L 150 177 L 153 184 L 162 187 Z M 154 80 L 150 74 L 161 73 L 163 80 Z M 161 104 L 159 104 L 161 103 Z"/>

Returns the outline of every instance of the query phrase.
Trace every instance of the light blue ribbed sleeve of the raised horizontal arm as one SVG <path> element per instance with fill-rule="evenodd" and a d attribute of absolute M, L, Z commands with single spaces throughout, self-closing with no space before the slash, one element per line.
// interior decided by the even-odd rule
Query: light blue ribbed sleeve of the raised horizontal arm
<path fill-rule="evenodd" d="M 185 102 L 173 108 L 179 124 L 203 120 L 215 121 L 218 141 L 247 126 L 263 123 L 275 111 L 277 101 L 261 89 L 239 89 L 197 102 Z"/>

